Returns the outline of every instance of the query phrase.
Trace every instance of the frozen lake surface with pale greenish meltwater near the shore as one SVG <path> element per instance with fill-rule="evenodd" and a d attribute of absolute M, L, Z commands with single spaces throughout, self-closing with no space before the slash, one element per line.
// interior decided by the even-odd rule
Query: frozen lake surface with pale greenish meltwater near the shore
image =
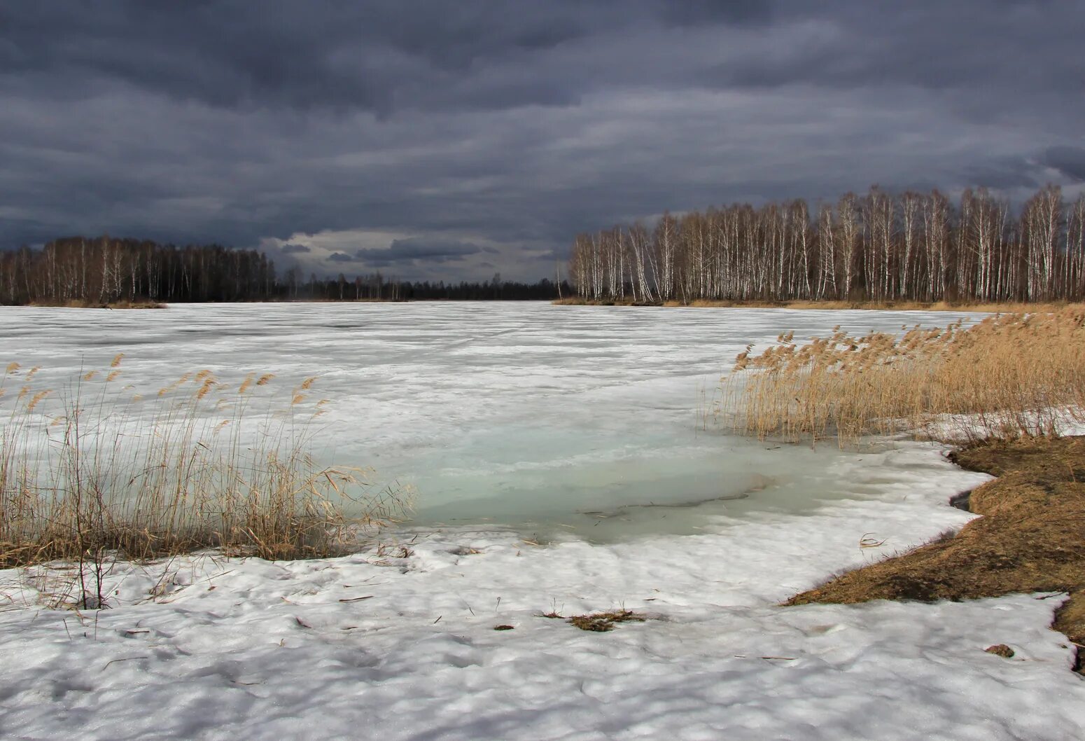
<path fill-rule="evenodd" d="M 417 490 L 417 525 L 509 525 L 539 539 L 692 533 L 907 487 L 905 462 L 702 425 L 719 375 L 782 331 L 945 325 L 923 311 L 656 309 L 544 303 L 0 308 L 0 361 L 42 383 L 104 368 L 154 393 L 186 371 L 280 386 L 318 375 L 315 452 Z M 865 455 L 867 459 L 865 460 Z"/>

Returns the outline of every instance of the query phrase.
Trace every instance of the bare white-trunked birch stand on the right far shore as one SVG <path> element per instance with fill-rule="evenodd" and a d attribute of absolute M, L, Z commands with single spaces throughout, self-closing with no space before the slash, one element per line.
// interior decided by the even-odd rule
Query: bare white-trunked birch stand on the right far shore
<path fill-rule="evenodd" d="M 729 205 L 580 234 L 570 277 L 589 299 L 1050 302 L 1085 298 L 1085 194 L 1047 186 L 1017 212 L 985 189 L 957 204 L 871 188 Z"/>

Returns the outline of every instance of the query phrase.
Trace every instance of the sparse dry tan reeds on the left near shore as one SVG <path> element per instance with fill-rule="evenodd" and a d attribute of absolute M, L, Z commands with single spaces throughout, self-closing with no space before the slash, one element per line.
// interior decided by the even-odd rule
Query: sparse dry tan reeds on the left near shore
<path fill-rule="evenodd" d="M 314 379 L 285 403 L 272 376 L 226 384 L 187 373 L 150 399 L 123 385 L 122 356 L 63 388 L 38 369 L 0 378 L 0 565 L 101 563 L 202 548 L 267 559 L 341 552 L 405 512 L 367 471 L 309 455 Z"/>

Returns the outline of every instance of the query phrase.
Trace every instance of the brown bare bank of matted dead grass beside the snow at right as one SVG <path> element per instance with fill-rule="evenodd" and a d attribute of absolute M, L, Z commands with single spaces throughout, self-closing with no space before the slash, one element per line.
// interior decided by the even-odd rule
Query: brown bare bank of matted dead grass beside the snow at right
<path fill-rule="evenodd" d="M 784 604 L 962 600 L 1065 591 L 1052 627 L 1085 644 L 1085 437 L 985 442 L 952 456 L 998 476 L 971 493 L 982 518 L 953 537 L 830 579 Z M 1085 650 L 1078 651 L 1082 670 Z"/>

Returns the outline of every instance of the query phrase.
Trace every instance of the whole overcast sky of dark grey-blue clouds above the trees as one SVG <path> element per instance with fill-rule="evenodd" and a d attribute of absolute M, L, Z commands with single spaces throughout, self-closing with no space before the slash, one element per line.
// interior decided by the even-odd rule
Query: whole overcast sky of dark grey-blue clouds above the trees
<path fill-rule="evenodd" d="M 731 202 L 1085 181 L 1085 0 L 0 0 L 0 247 L 552 277 Z"/>

